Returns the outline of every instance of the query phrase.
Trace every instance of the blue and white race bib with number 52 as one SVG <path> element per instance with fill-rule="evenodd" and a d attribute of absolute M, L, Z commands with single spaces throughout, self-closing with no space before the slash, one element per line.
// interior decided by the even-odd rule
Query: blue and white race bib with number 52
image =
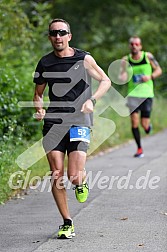
<path fill-rule="evenodd" d="M 70 128 L 70 142 L 83 141 L 90 143 L 90 128 L 74 126 Z"/>

